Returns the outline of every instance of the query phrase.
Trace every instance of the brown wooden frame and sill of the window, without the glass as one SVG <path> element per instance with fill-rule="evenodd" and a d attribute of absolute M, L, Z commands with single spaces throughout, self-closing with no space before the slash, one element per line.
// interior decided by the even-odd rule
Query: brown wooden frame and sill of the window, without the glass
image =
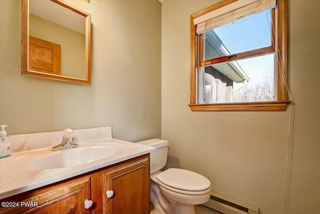
<path fill-rule="evenodd" d="M 236 2 L 238 0 L 222 0 L 217 4 L 214 4 L 202 11 L 190 15 L 190 51 L 191 51 L 191 65 L 190 65 L 190 107 L 191 111 L 285 111 L 286 106 L 290 103 L 287 100 L 287 0 L 277 0 L 275 13 L 272 16 L 275 17 L 275 32 L 273 41 L 275 41 L 275 50 L 273 45 L 261 48 L 253 51 L 243 52 L 236 56 L 234 59 L 244 59 L 250 56 L 263 55 L 267 53 L 275 52 L 275 101 L 268 102 L 244 102 L 244 103 L 197 103 L 197 68 L 199 67 L 200 57 L 196 52 L 200 52 L 199 43 L 201 36 L 196 34 L 196 25 L 193 24 L 193 19 L 214 11 L 218 8 L 224 7 L 228 4 Z M 273 35 L 273 32 L 272 32 Z M 226 57 L 221 57 L 219 60 L 227 60 Z M 216 59 L 215 59 L 216 60 Z M 281 62 L 281 70 L 279 62 Z M 205 60 L 203 65 L 210 65 L 214 63 L 213 60 Z"/>

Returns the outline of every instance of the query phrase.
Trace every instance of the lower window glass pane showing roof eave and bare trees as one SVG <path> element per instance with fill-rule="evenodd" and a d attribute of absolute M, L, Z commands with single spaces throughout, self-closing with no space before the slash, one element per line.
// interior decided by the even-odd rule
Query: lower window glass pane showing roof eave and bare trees
<path fill-rule="evenodd" d="M 274 100 L 274 54 L 205 67 L 204 103 Z"/>

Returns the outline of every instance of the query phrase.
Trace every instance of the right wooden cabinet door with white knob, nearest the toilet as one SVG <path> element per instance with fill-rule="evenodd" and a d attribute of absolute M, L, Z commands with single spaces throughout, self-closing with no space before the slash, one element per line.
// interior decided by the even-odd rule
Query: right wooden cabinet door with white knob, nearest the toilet
<path fill-rule="evenodd" d="M 149 154 L 104 172 L 103 189 L 103 213 L 149 213 Z"/>

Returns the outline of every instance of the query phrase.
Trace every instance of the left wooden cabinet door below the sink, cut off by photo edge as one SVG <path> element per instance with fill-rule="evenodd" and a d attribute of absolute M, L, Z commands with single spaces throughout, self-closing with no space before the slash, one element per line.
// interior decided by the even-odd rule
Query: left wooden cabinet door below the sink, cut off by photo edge
<path fill-rule="evenodd" d="M 89 177 L 64 181 L 6 198 L 20 201 L 19 206 L 1 207 L 0 213 L 90 213 L 84 208 L 84 200 L 90 198 L 89 189 Z"/>

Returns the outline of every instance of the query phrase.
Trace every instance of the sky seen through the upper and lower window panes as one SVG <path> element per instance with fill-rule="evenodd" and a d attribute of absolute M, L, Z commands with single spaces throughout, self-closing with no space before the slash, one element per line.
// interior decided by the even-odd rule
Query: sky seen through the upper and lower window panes
<path fill-rule="evenodd" d="M 232 54 L 268 47 L 270 37 L 270 11 L 230 23 L 214 32 Z M 250 84 L 256 84 L 265 77 L 266 72 L 273 73 L 274 55 L 238 60 L 237 63 L 250 78 Z"/>

